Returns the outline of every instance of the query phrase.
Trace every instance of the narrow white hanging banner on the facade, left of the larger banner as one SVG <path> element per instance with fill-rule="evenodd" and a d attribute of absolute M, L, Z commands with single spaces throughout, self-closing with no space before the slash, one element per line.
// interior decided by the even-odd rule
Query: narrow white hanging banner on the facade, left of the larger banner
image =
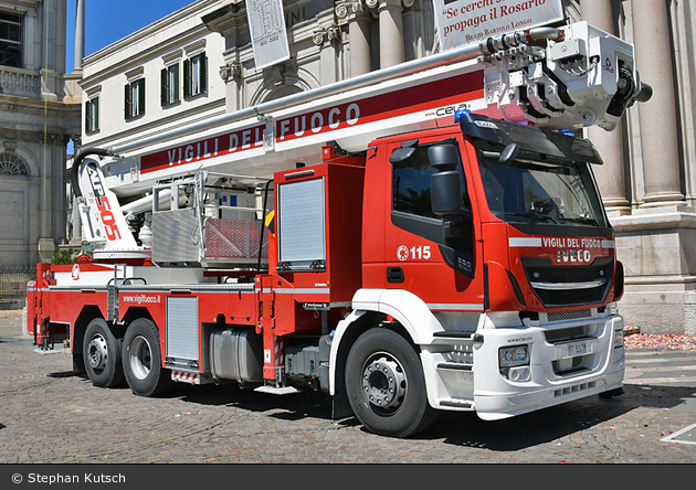
<path fill-rule="evenodd" d="M 256 68 L 289 58 L 283 0 L 246 0 Z"/>

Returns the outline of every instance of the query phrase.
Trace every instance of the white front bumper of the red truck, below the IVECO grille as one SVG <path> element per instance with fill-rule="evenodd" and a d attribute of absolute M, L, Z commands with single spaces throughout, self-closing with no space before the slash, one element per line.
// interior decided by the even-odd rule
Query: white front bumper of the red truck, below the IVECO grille
<path fill-rule="evenodd" d="M 472 345 L 466 370 L 439 369 L 441 354 L 423 351 L 429 401 L 495 420 L 618 388 L 625 369 L 623 342 L 615 339 L 622 331 L 620 316 L 478 329 L 483 343 Z M 530 376 L 510 381 L 500 373 L 498 352 L 521 344 L 529 349 Z"/>

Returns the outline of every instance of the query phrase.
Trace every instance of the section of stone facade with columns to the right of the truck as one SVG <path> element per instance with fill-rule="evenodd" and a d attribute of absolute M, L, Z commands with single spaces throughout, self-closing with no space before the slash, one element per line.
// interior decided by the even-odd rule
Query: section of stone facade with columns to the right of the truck
<path fill-rule="evenodd" d="M 696 4 L 581 0 L 583 19 L 635 46 L 653 87 L 619 129 L 590 129 L 605 164 L 595 177 L 625 267 L 620 312 L 652 333 L 696 334 Z"/>

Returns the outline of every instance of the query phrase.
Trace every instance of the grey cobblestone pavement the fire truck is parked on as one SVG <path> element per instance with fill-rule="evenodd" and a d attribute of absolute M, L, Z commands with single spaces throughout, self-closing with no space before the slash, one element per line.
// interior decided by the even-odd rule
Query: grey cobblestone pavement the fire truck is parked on
<path fill-rule="evenodd" d="M 0 464 L 694 464 L 696 353 L 629 351 L 625 394 L 499 422 L 443 413 L 413 439 L 333 420 L 328 398 L 180 385 L 164 398 L 72 375 L 0 312 Z M 673 440 L 669 440 L 669 439 Z M 681 441 L 679 441 L 681 440 Z"/>

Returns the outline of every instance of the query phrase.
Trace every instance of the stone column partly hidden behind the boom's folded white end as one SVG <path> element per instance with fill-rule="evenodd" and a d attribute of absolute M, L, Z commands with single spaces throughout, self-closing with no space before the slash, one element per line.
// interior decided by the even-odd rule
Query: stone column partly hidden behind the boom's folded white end
<path fill-rule="evenodd" d="M 582 19 L 609 34 L 616 35 L 612 0 L 582 0 Z M 608 212 L 629 214 L 631 203 L 626 196 L 623 155 L 623 121 L 613 131 L 600 127 L 588 128 L 588 137 L 604 160 L 603 166 L 593 166 L 602 201 Z"/>

